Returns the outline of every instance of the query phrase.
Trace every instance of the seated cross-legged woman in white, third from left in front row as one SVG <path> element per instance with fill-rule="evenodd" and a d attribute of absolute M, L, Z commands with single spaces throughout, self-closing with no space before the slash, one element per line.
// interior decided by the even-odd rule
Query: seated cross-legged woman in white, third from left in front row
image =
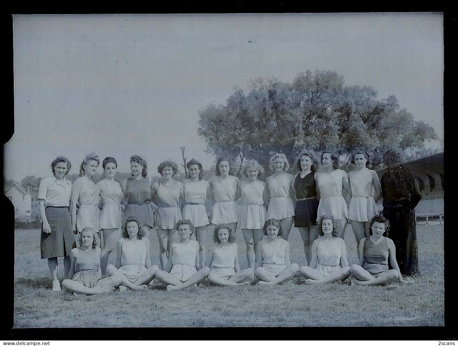
<path fill-rule="evenodd" d="M 200 267 L 199 242 L 191 240 L 194 225 L 189 220 L 179 220 L 175 229 L 180 240 L 170 245 L 169 259 L 164 270 L 156 272 L 156 278 L 167 285 L 167 291 L 197 285 L 210 274 L 210 268 Z"/>

